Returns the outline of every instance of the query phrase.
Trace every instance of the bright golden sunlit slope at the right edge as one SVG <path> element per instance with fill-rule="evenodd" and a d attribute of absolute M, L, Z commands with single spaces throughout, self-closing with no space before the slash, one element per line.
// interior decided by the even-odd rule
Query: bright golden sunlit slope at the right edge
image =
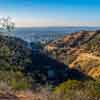
<path fill-rule="evenodd" d="M 100 78 L 100 57 L 93 54 L 81 53 L 69 66 L 81 70 L 95 79 Z"/>

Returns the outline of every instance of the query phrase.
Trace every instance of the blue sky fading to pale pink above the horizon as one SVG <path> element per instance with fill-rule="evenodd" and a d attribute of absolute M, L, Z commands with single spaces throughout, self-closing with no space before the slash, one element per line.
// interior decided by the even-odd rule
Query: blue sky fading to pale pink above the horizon
<path fill-rule="evenodd" d="M 0 0 L 18 27 L 100 26 L 100 0 Z"/>

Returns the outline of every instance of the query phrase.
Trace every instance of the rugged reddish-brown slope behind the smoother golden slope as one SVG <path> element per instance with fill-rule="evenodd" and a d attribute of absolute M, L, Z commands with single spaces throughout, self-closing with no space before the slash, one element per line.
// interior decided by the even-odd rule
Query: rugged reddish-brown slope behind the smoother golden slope
<path fill-rule="evenodd" d="M 69 34 L 48 44 L 45 49 L 65 64 L 71 63 L 84 50 L 81 45 L 91 40 L 98 31 L 81 31 Z"/>

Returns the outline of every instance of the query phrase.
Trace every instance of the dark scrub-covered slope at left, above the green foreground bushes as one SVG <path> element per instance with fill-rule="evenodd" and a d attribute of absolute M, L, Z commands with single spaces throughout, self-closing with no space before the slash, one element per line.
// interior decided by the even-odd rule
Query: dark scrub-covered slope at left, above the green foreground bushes
<path fill-rule="evenodd" d="M 32 51 L 27 45 L 19 38 L 0 36 L 0 65 L 23 67 L 30 64 Z"/>

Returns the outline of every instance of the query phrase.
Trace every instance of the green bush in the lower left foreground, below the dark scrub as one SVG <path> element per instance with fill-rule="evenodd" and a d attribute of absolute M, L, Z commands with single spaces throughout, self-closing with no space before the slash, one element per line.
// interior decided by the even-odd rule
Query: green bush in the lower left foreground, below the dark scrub
<path fill-rule="evenodd" d="M 32 86 L 31 77 L 25 76 L 20 71 L 0 71 L 0 83 L 4 82 L 14 90 L 25 90 Z"/>

